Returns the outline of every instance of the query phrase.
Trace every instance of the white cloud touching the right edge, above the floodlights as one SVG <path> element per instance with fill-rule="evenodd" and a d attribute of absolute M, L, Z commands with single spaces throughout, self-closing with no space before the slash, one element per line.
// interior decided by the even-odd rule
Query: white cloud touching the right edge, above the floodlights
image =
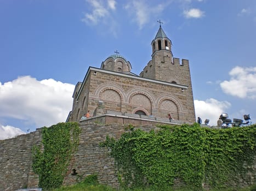
<path fill-rule="evenodd" d="M 256 67 L 235 67 L 230 72 L 231 79 L 220 83 L 221 89 L 231 96 L 256 98 Z"/>

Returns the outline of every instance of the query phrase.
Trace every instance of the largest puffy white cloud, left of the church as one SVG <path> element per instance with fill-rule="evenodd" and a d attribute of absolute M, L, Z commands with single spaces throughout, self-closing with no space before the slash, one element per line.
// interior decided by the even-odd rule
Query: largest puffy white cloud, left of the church
<path fill-rule="evenodd" d="M 72 108 L 74 85 L 31 76 L 0 82 L 0 117 L 22 120 L 37 127 L 66 120 Z"/>

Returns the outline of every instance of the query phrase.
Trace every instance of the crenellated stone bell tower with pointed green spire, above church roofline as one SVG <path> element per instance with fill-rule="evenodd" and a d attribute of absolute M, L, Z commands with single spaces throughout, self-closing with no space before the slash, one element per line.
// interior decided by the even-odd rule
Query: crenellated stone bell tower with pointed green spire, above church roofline
<path fill-rule="evenodd" d="M 172 53 L 172 41 L 164 33 L 160 23 L 155 38 L 151 41 L 152 59 L 141 71 L 140 76 L 154 80 L 161 80 L 181 85 L 191 86 L 189 61 L 174 58 Z"/>

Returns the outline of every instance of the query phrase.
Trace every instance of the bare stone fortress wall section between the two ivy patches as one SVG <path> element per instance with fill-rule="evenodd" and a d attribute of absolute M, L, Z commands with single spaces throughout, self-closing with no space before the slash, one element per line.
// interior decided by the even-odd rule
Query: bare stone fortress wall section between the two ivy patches
<path fill-rule="evenodd" d="M 79 136 L 78 151 L 70 164 L 69 174 L 64 180 L 64 185 L 76 183 L 77 177 L 81 180 L 88 175 L 97 174 L 98 180 L 102 184 L 111 187 L 118 187 L 117 169 L 115 160 L 110 157 L 110 150 L 100 147 L 99 144 L 106 140 L 106 136 L 119 139 L 125 132 L 126 126 L 120 124 L 100 125 L 81 123 L 82 132 Z M 143 130 L 151 130 L 154 126 L 141 127 Z M 71 175 L 75 169 L 77 176 Z"/>

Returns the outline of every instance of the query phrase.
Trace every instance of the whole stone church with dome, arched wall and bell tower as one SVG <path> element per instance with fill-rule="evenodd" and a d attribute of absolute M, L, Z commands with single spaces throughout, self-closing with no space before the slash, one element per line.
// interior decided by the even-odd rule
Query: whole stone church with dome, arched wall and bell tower
<path fill-rule="evenodd" d="M 130 62 L 116 52 L 101 63 L 89 67 L 83 82 L 73 92 L 73 106 L 66 122 L 81 121 L 107 114 L 167 119 L 194 123 L 195 108 L 189 61 L 174 58 L 172 41 L 161 25 L 151 42 L 152 58 L 139 75 L 131 72 Z"/>

